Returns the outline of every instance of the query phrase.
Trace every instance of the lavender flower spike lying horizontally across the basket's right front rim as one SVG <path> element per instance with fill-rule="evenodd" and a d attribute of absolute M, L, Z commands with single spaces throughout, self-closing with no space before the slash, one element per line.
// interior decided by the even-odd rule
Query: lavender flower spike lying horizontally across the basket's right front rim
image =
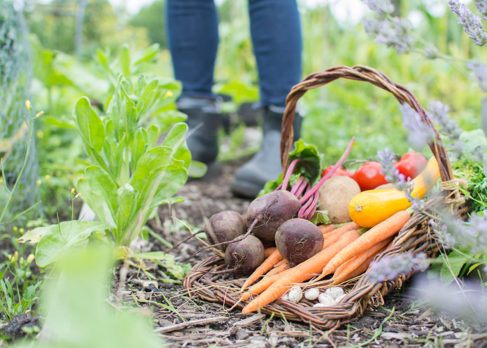
<path fill-rule="evenodd" d="M 425 253 L 399 253 L 391 257 L 372 261 L 367 278 L 373 283 L 395 279 L 399 274 L 408 274 L 410 271 L 420 271 L 428 267 L 429 262 Z"/>

